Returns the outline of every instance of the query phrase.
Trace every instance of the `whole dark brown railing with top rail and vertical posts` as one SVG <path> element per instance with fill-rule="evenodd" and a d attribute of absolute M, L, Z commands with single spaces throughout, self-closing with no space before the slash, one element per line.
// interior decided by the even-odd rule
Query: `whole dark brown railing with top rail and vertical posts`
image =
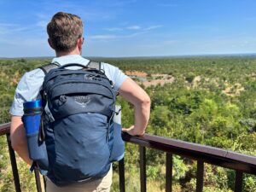
<path fill-rule="evenodd" d="M 20 192 L 20 180 L 15 160 L 15 152 L 9 140 L 9 124 L 0 125 L 0 137 L 6 135 L 9 146 L 15 189 Z M 145 134 L 143 137 L 131 137 L 123 133 L 125 142 L 139 145 L 140 151 L 140 184 L 141 192 L 147 191 L 146 176 L 146 148 L 154 148 L 166 153 L 166 192 L 172 191 L 172 154 L 177 154 L 197 161 L 196 192 L 203 190 L 204 163 L 221 166 L 236 171 L 235 192 L 242 191 L 242 177 L 244 173 L 256 175 L 256 157 L 238 154 L 229 150 L 212 148 L 201 144 L 187 143 L 175 139 L 157 137 Z M 125 192 L 125 160 L 119 161 L 119 190 Z M 41 192 L 41 183 L 38 171 L 35 172 L 38 192 Z M 44 183 L 45 184 L 45 183 Z"/>

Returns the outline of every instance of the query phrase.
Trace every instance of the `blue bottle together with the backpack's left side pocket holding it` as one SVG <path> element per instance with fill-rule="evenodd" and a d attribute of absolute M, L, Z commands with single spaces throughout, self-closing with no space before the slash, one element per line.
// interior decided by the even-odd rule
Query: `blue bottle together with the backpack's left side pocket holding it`
<path fill-rule="evenodd" d="M 26 130 L 29 157 L 41 170 L 47 170 L 49 166 L 47 150 L 44 139 L 40 138 L 42 102 L 41 100 L 24 102 L 23 107 L 22 121 Z"/>

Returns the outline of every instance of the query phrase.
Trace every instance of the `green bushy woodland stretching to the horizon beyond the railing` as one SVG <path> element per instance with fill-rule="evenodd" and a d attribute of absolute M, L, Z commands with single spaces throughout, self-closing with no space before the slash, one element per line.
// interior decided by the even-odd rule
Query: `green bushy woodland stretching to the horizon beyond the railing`
<path fill-rule="evenodd" d="M 15 87 L 21 76 L 49 59 L 0 60 L 0 123 L 9 122 Z M 201 56 L 102 59 L 119 67 L 151 97 L 147 133 L 256 156 L 256 56 Z M 124 127 L 132 125 L 131 104 L 118 98 Z M 165 191 L 165 154 L 147 150 L 148 191 Z M 36 191 L 34 176 L 19 160 L 21 187 Z M 119 191 L 113 165 L 112 191 Z M 195 191 L 196 164 L 174 156 L 173 191 Z M 233 191 L 235 173 L 207 165 L 204 191 Z M 126 191 L 139 191 L 138 148 L 126 144 Z M 243 189 L 256 191 L 246 175 Z M 15 191 L 6 137 L 0 137 L 0 191 Z"/>

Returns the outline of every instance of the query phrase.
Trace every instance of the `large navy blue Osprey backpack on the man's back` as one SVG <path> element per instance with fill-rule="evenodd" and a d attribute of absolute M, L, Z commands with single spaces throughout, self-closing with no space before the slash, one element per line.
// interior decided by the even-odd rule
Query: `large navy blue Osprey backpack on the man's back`
<path fill-rule="evenodd" d="M 124 155 L 121 125 L 113 122 L 117 94 L 112 81 L 98 62 L 40 68 L 45 73 L 40 140 L 49 163 L 35 164 L 58 186 L 104 177 Z"/>

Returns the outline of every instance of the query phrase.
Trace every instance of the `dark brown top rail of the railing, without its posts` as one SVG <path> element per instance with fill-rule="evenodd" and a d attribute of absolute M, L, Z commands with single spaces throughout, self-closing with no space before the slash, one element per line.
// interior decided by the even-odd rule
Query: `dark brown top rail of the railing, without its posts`
<path fill-rule="evenodd" d="M 9 133 L 9 129 L 10 123 L 0 125 L 0 136 Z M 161 151 L 178 154 L 194 160 L 204 160 L 205 162 L 213 165 L 223 166 L 256 175 L 255 156 L 239 154 L 230 150 L 214 148 L 197 143 L 152 136 L 149 134 L 145 134 L 143 137 L 132 137 L 127 133 L 123 133 L 122 137 L 125 142 L 136 143 L 148 148 L 156 148 Z"/>

